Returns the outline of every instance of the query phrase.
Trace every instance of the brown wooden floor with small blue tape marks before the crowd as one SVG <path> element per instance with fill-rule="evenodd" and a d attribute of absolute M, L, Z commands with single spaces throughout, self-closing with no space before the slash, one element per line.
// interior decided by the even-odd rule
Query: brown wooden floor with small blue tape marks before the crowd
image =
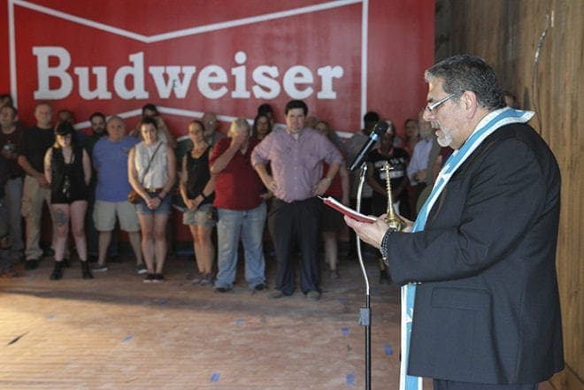
<path fill-rule="evenodd" d="M 130 261 L 93 280 L 74 263 L 50 281 L 51 267 L 0 279 L 0 390 L 365 388 L 355 261 L 341 263 L 341 279 L 323 274 L 319 302 L 251 294 L 241 274 L 233 292 L 214 293 L 188 283 L 183 257 L 169 259 L 161 284 L 142 283 Z M 375 268 L 372 388 L 396 389 L 398 288 L 379 286 Z"/>

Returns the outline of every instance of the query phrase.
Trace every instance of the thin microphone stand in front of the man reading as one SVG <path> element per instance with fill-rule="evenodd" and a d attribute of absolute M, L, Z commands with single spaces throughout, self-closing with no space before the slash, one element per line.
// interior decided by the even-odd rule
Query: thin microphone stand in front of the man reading
<path fill-rule="evenodd" d="M 357 186 L 357 212 L 361 211 L 361 193 L 363 192 L 366 172 L 367 164 L 364 162 L 361 164 L 359 184 Z M 365 307 L 359 309 L 359 325 L 365 326 L 365 390 L 371 390 L 371 294 L 369 291 L 369 278 L 367 278 L 367 271 L 365 270 L 361 253 L 361 239 L 358 235 L 356 242 L 357 257 L 363 272 L 363 279 L 365 279 Z"/>

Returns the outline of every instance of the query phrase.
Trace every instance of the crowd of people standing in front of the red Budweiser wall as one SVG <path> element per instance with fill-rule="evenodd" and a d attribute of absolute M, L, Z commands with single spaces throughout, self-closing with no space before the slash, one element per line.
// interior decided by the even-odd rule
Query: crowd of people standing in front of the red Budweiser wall
<path fill-rule="evenodd" d="M 53 126 L 50 103 L 39 103 L 35 126 L 24 128 L 12 102 L 6 102 L 0 111 L 0 195 L 5 206 L 0 211 L 7 213 L 0 230 L 5 241 L 4 275 L 14 276 L 19 260 L 24 260 L 26 270 L 33 270 L 42 256 L 50 255 L 54 258 L 50 279 L 61 279 L 69 266 L 71 233 L 81 276 L 91 279 L 93 272 L 108 271 L 111 241 L 118 239 L 119 226 L 127 233 L 143 281 L 163 281 L 173 197 L 180 197 L 196 259 L 196 271 L 190 275 L 194 283 L 213 286 L 219 293 L 231 290 L 242 241 L 245 280 L 251 290 L 264 290 L 267 227 L 277 263 L 270 296 L 294 293 L 296 244 L 301 254 L 300 289 L 307 298 L 318 300 L 320 239 L 328 275 L 338 279 L 338 235 L 344 226 L 341 214 L 323 206 L 318 196 L 333 196 L 346 205 L 354 200 L 356 173 L 348 172 L 346 162 L 380 117 L 368 112 L 364 129 L 345 142 L 326 120 L 309 120 L 303 101 L 290 101 L 284 114 L 285 126 L 276 125 L 272 107 L 262 104 L 253 122 L 235 119 L 222 134 L 217 117 L 205 113 L 188 124 L 190 148 L 176 161 L 177 141 L 153 104 L 142 108 L 142 120 L 129 132 L 119 116 L 107 119 L 95 112 L 89 118 L 91 134 L 83 134 L 74 129 L 71 111 L 59 111 Z M 366 213 L 381 213 L 387 206 L 380 162 L 389 161 L 393 202 L 411 217 L 415 206 L 407 195 L 411 179 L 406 172 L 410 154 L 399 145 L 405 148 L 419 140 L 418 119 L 408 119 L 405 126 L 408 136 L 401 140 L 390 123 L 379 148 L 367 158 L 365 187 L 370 187 L 372 201 L 365 201 Z M 415 174 L 421 177 L 420 172 Z M 134 193 L 134 202 L 128 200 L 129 192 Z M 44 250 L 43 203 L 50 206 L 53 226 L 52 245 Z M 96 258 L 92 269 L 90 256 Z M 381 275 L 385 276 L 381 282 L 388 280 L 383 269 Z"/>

